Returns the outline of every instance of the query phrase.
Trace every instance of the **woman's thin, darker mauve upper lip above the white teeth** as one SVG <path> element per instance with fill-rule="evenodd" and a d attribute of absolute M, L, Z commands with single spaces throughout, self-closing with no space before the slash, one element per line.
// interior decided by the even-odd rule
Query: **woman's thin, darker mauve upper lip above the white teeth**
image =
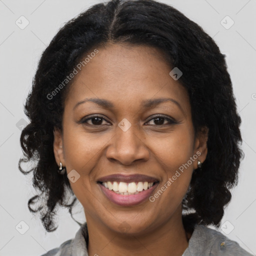
<path fill-rule="evenodd" d="M 97 182 L 106 182 L 106 181 L 117 181 L 117 182 L 139 182 L 139 181 L 147 181 L 147 182 L 158 182 L 159 180 L 157 178 L 147 176 L 144 174 L 130 174 L 130 175 L 124 175 L 124 174 L 111 174 L 107 176 L 103 176 L 98 178 Z"/>

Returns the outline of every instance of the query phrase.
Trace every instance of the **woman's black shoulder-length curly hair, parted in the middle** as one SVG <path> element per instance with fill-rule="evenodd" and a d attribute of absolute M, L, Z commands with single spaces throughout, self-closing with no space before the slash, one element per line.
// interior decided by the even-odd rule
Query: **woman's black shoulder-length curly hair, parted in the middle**
<path fill-rule="evenodd" d="M 196 223 L 219 227 L 244 157 L 239 145 L 241 119 L 225 55 L 199 25 L 175 8 L 154 0 L 95 4 L 61 27 L 42 53 L 24 105 L 30 123 L 20 136 L 24 156 L 19 160 L 19 170 L 24 174 L 33 171 L 33 187 L 39 191 L 28 200 L 29 210 L 40 212 L 48 232 L 57 228 L 53 221 L 57 206 L 68 207 L 72 217 L 77 198 L 67 176 L 57 173 L 53 154 L 53 128 L 62 130 L 70 82 L 53 99 L 47 95 L 92 48 L 104 47 L 108 42 L 155 47 L 168 61 L 170 70 L 177 66 L 182 71 L 178 81 L 189 94 L 194 130 L 208 127 L 207 156 L 192 174 L 182 201 L 187 210 L 182 220 L 188 231 Z M 21 164 L 30 161 L 34 166 L 24 171 Z M 38 207 L 30 207 L 38 201 Z"/>

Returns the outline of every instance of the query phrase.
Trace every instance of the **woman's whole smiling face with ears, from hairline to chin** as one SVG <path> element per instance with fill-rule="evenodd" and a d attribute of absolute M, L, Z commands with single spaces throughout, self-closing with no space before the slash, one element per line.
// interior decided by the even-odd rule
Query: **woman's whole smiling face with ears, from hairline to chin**
<path fill-rule="evenodd" d="M 194 136 L 188 94 L 171 69 L 155 48 L 108 44 L 73 78 L 54 154 L 73 176 L 87 222 L 142 234 L 180 219 L 207 148 L 205 137 Z M 118 175 L 104 178 L 112 174 Z M 118 194 L 107 181 L 117 192 L 144 188 Z M 149 189 L 146 181 L 153 182 Z"/>

